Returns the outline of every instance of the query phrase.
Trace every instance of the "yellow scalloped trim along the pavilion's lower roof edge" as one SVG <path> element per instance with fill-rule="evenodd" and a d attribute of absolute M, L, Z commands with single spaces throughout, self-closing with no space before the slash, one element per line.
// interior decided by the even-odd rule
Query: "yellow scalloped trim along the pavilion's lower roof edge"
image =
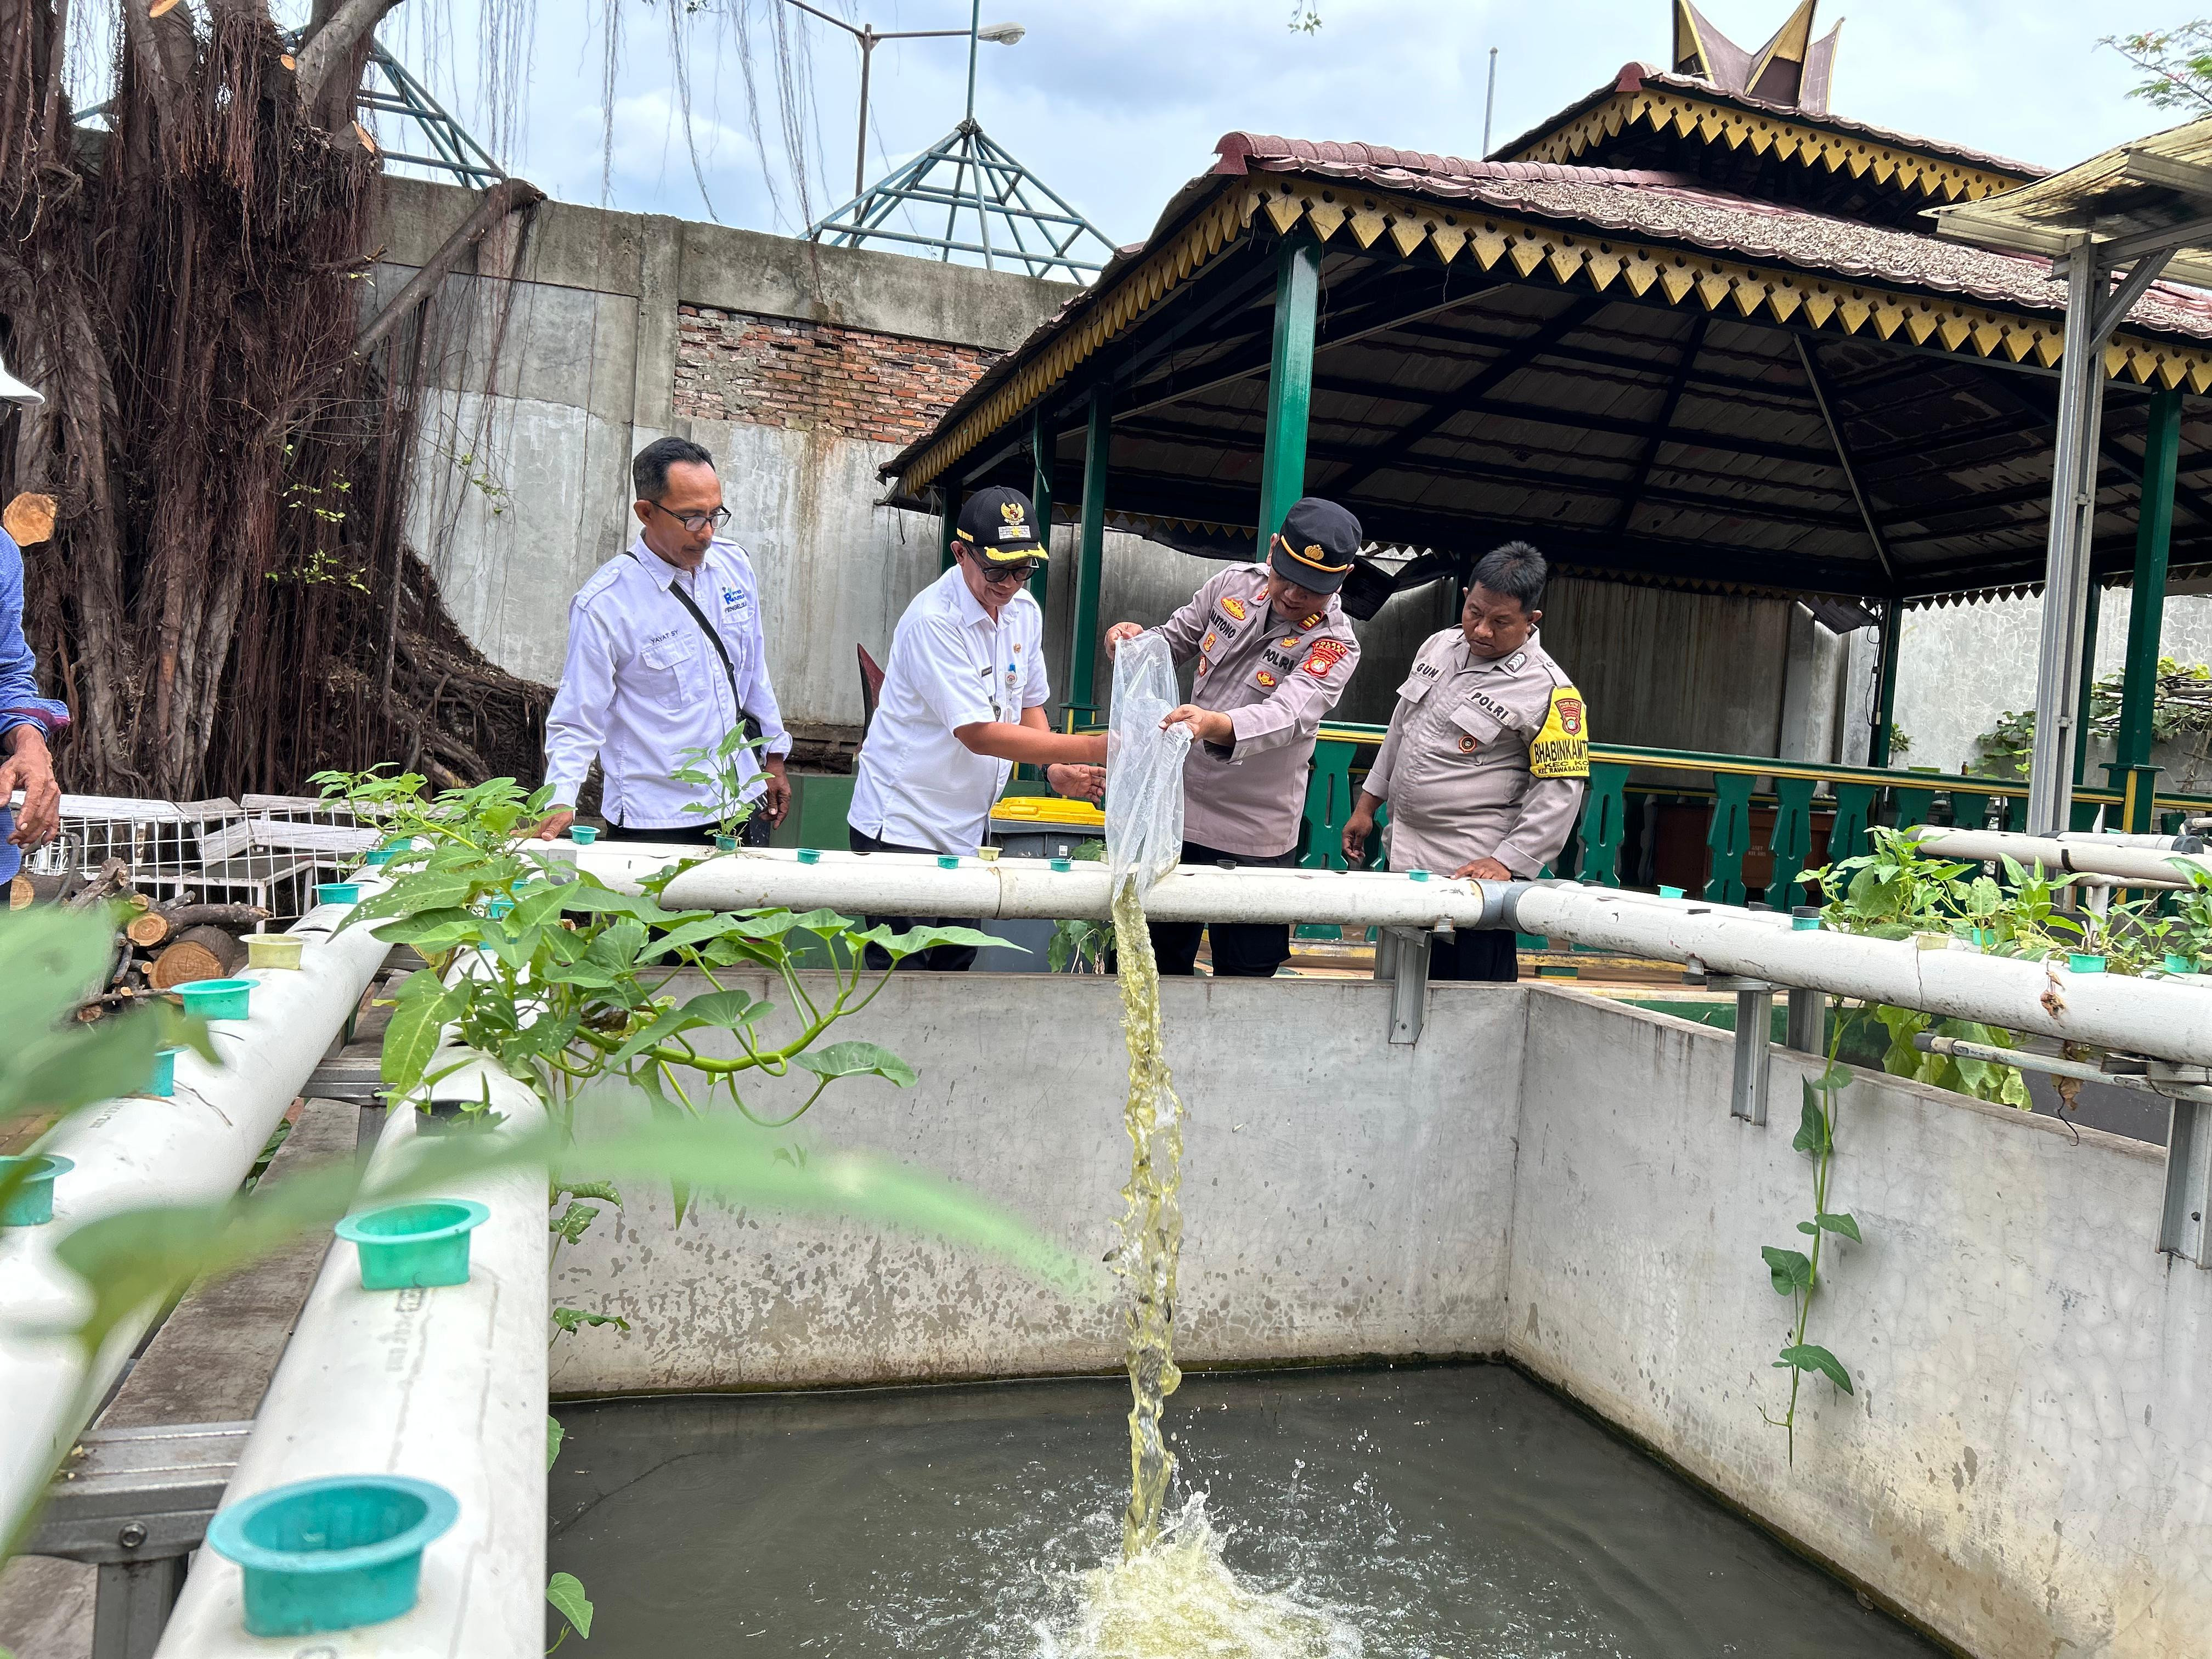
<path fill-rule="evenodd" d="M 1029 409 L 1075 365 L 1230 246 L 1261 212 L 1279 234 L 1305 223 L 1327 243 L 1349 228 L 1363 248 L 1371 248 L 1387 232 L 1400 257 L 1427 246 L 1447 265 L 1460 254 L 1471 257 L 1482 270 L 1506 261 L 1522 276 L 1544 272 L 1562 288 L 1586 274 L 1597 292 L 1626 283 L 1630 294 L 1644 299 L 1657 288 L 1668 305 L 1686 305 L 1694 296 L 1708 312 L 1725 305 L 1730 314 L 1750 319 L 1763 310 L 1776 323 L 1805 316 L 1814 327 L 1834 327 L 1840 334 L 1871 330 L 1885 341 L 1902 332 L 1913 345 L 1940 345 L 1947 352 L 1984 358 L 2004 356 L 2013 363 L 2033 356 L 2046 369 L 2057 365 L 2066 345 L 2066 319 L 2059 312 L 2022 316 L 1969 299 L 1898 294 L 1840 276 L 1812 276 L 1781 265 L 1754 265 L 1613 234 L 1593 237 L 1413 197 L 1345 188 L 1325 179 L 1270 175 L 1225 190 L 1168 248 L 1115 283 L 1082 325 L 1053 341 L 958 427 L 925 449 L 900 476 L 900 489 L 907 493 L 927 489 L 960 456 Z M 2212 392 L 2212 345 L 2115 334 L 2104 365 L 2115 380 Z"/>

